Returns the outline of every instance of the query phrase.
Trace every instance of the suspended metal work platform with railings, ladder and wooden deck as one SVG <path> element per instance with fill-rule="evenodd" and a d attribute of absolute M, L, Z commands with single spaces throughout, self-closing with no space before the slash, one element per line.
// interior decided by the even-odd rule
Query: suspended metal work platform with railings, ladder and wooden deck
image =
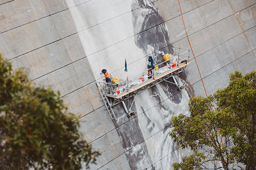
<path fill-rule="evenodd" d="M 158 83 L 167 81 L 167 79 L 172 77 L 174 81 L 173 84 L 176 85 L 178 91 L 184 88 L 183 86 L 180 86 L 177 83 L 178 81 L 176 81 L 174 75 L 179 75 L 179 73 L 184 71 L 184 68 L 186 68 L 186 66 L 190 64 L 189 63 L 190 50 L 182 49 L 182 48 L 178 48 L 178 49 L 179 49 L 178 55 L 176 55 L 175 57 L 171 57 L 169 60 L 166 60 L 165 62 L 155 65 L 155 68 L 153 69 L 151 75 L 147 75 L 146 73 L 148 73 L 148 70 L 145 70 L 144 72 L 136 74 L 133 77 L 130 77 L 130 78 L 127 77 L 126 80 L 116 84 L 96 81 L 96 85 L 102 96 L 101 100 L 104 101 L 106 109 L 108 110 L 111 116 L 111 119 L 113 121 L 114 120 L 117 121 L 117 118 L 113 113 L 113 110 L 111 108 L 112 106 L 122 102 L 127 116 L 130 117 L 131 115 L 135 114 L 134 112 L 131 112 L 130 109 L 136 98 L 136 95 L 146 89 L 149 89 L 150 87 Z M 183 50 L 184 52 L 180 53 L 180 50 Z M 156 54 L 158 54 L 158 50 L 156 51 Z M 158 55 L 156 55 L 155 57 L 156 60 L 157 60 L 157 57 Z M 165 66 L 160 68 L 160 66 L 162 65 L 165 65 Z M 172 83 L 172 82 L 169 82 L 169 83 Z M 108 84 L 111 84 L 112 89 L 107 88 Z M 132 104 L 129 105 L 129 98 L 133 96 L 134 98 L 132 99 Z M 128 105 L 126 105 L 124 101 L 126 101 Z"/>

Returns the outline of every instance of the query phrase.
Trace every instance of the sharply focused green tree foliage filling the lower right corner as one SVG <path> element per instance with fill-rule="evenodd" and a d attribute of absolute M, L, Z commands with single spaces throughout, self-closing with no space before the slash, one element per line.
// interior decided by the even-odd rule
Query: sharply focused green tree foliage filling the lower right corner
<path fill-rule="evenodd" d="M 230 170 L 238 163 L 256 169 L 256 72 L 230 74 L 226 88 L 208 98 L 191 98 L 189 110 L 188 116 L 171 118 L 169 135 L 193 151 L 174 163 L 174 170 Z"/>

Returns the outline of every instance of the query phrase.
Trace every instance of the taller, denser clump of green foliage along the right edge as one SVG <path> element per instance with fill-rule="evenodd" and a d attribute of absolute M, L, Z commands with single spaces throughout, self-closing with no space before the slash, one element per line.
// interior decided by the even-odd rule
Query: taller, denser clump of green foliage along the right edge
<path fill-rule="evenodd" d="M 230 75 L 228 87 L 216 92 L 217 106 L 234 116 L 232 154 L 246 169 L 256 170 L 256 72 Z"/>

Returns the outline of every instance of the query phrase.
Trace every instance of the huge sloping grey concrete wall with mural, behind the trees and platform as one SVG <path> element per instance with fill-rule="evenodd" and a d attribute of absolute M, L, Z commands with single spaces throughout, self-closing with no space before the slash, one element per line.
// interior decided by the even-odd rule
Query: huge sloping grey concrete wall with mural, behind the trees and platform
<path fill-rule="evenodd" d="M 256 0 L 180 6 L 208 95 L 228 85 L 230 72 L 255 70 Z M 164 82 L 143 91 L 132 106 L 137 115 L 129 119 L 116 105 L 114 123 L 95 85 L 103 68 L 126 79 L 125 58 L 129 77 L 145 70 L 157 45 L 171 55 L 173 47 L 191 49 L 178 0 L 0 0 L 0 53 L 14 68 L 29 68 L 37 85 L 59 90 L 80 116 L 84 138 L 102 153 L 92 170 L 169 170 L 189 152 L 168 136 L 170 117 L 189 113 L 184 73 L 184 90 Z M 195 59 L 191 54 L 187 79 L 193 96 L 206 96 Z"/>

